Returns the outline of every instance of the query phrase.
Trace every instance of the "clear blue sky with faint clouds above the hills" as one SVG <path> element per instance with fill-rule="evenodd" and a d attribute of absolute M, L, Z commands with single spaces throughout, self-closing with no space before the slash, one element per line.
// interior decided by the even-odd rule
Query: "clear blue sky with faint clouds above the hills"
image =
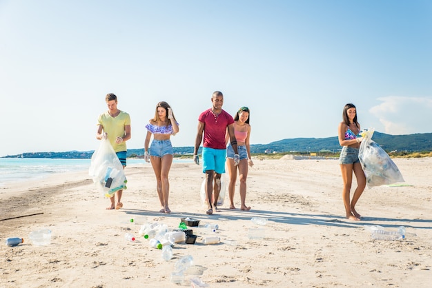
<path fill-rule="evenodd" d="M 362 128 L 431 132 L 432 1 L 0 0 L 0 156 L 95 150 L 105 95 L 144 147 L 158 101 L 193 146 L 213 91 L 251 109 L 251 143 Z"/>

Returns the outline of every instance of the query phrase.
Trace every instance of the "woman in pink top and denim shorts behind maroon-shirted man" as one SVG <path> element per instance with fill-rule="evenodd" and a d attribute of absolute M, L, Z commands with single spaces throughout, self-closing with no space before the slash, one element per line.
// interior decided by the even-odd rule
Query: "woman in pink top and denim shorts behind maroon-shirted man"
<path fill-rule="evenodd" d="M 250 111 L 248 107 L 241 107 L 234 117 L 234 135 L 237 140 L 237 150 L 240 156 L 239 165 L 234 165 L 234 150 L 230 144 L 226 149 L 226 165 L 230 175 L 230 184 L 228 185 L 228 195 L 230 198 L 230 209 L 235 209 L 234 206 L 234 190 L 235 182 L 237 181 L 237 167 L 240 178 L 240 201 L 242 205 L 240 209 L 249 210 L 251 207 L 246 206 L 246 178 L 248 178 L 248 166 L 252 167 L 251 147 L 249 138 L 251 136 L 251 125 L 249 124 Z M 226 143 L 229 137 L 226 136 Z"/>

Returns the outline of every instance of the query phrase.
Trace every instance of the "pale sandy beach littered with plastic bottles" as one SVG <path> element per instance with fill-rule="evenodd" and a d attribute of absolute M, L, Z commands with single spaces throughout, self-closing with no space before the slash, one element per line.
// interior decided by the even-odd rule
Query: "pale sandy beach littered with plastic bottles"
<path fill-rule="evenodd" d="M 208 287 L 430 287 L 432 158 L 393 161 L 405 185 L 366 187 L 357 204 L 361 221 L 344 218 L 337 159 L 255 159 L 246 196 L 252 209 L 228 209 L 226 195 L 221 211 L 210 216 L 199 195 L 204 174 L 194 163 L 173 163 L 171 214 L 159 213 L 149 164 L 126 167 L 128 189 L 119 210 L 105 209 L 109 200 L 87 171 L 6 185 L 0 187 L 0 287 L 190 287 L 190 278 Z M 240 207 L 238 183 L 235 205 Z M 18 216 L 26 217 L 13 218 Z M 126 232 L 139 232 L 139 224 L 124 223 L 130 216 L 173 229 L 190 217 L 219 230 L 191 227 L 195 245 L 177 243 L 166 261 L 148 240 L 125 240 Z M 255 225 L 251 218 L 257 216 L 268 223 Z M 364 225 L 389 231 L 404 225 L 408 234 L 404 240 L 374 240 Z M 250 239 L 249 229 L 258 227 L 265 238 Z M 50 245 L 28 239 L 41 228 L 52 230 Z M 215 234 L 219 244 L 202 243 Z M 25 242 L 9 247 L 8 237 Z M 170 274 L 187 255 L 197 269 L 182 285 L 174 284 Z"/>

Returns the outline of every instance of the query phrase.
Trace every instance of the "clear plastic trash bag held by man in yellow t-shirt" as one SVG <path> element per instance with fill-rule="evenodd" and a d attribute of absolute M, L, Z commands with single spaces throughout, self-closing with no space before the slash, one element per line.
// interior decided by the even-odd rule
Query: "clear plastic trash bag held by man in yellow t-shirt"
<path fill-rule="evenodd" d="M 108 139 L 102 139 L 101 145 L 93 153 L 88 174 L 92 176 L 97 189 L 106 197 L 110 198 L 115 192 L 126 189 L 123 165 Z"/>

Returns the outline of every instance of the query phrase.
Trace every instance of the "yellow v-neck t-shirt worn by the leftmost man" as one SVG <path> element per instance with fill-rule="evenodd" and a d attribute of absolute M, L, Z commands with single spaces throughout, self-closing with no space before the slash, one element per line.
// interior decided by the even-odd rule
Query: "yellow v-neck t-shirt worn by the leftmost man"
<path fill-rule="evenodd" d="M 106 111 L 99 115 L 97 123 L 97 125 L 102 125 L 104 132 L 108 134 L 108 140 L 115 152 L 126 151 L 126 142 L 117 144 L 115 143 L 115 138 L 125 135 L 124 127 L 130 125 L 130 116 L 128 113 L 120 111 L 117 116 L 112 117 Z"/>

